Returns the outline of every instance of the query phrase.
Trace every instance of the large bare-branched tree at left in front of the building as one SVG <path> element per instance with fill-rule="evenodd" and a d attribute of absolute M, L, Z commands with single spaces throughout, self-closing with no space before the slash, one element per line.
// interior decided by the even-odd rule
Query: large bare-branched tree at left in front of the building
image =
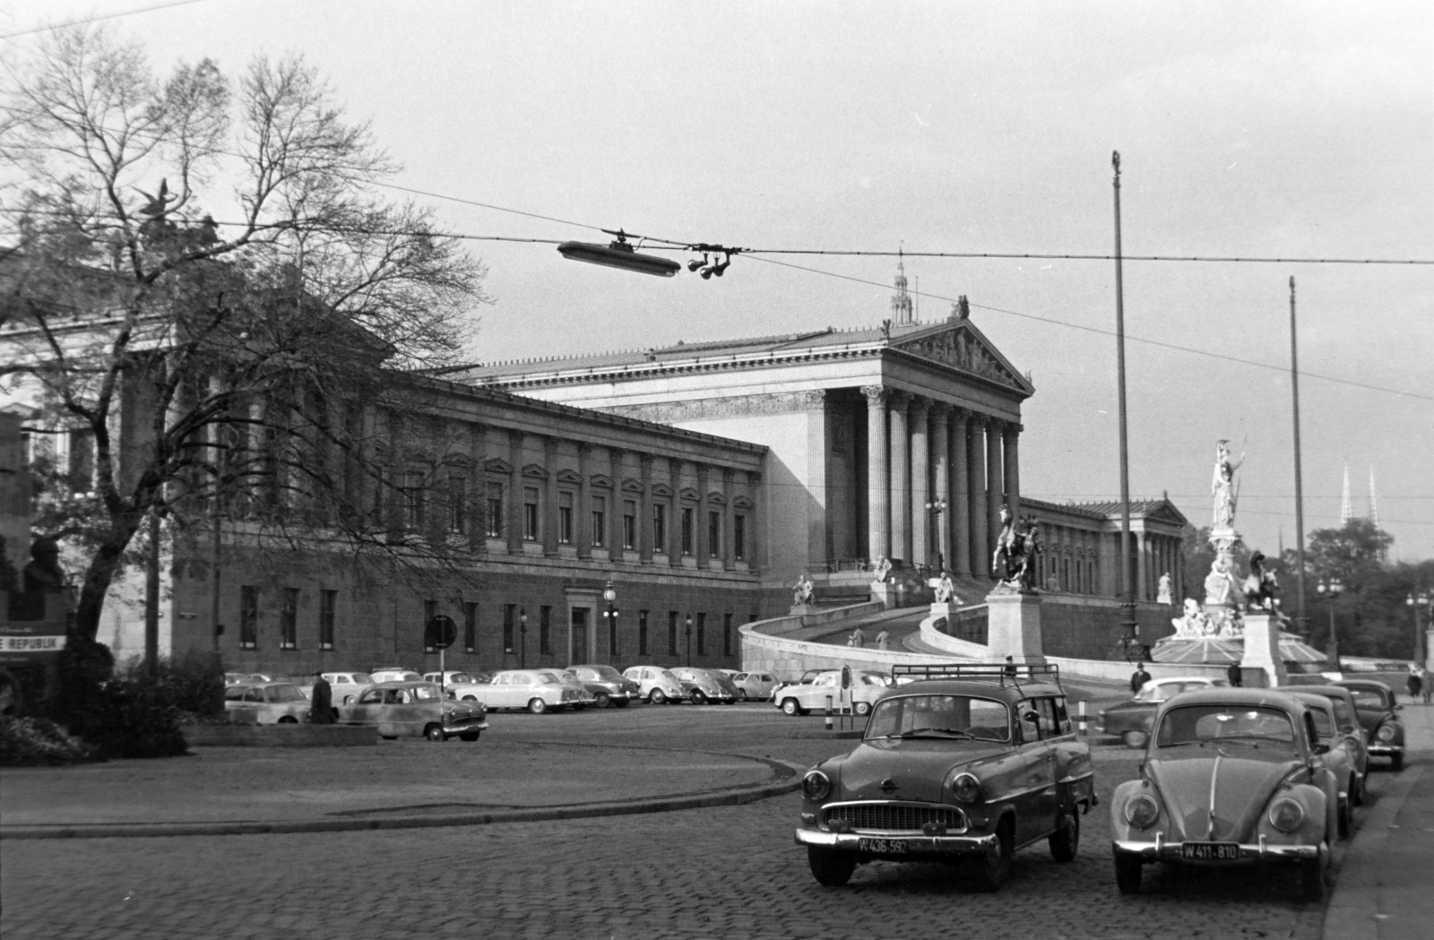
<path fill-rule="evenodd" d="M 6 76 L 0 391 L 92 447 L 50 519 L 83 536 L 90 639 L 151 513 L 414 556 L 364 416 L 416 407 L 488 301 L 457 239 L 377 195 L 397 166 L 303 60 L 232 85 L 86 26 Z"/>

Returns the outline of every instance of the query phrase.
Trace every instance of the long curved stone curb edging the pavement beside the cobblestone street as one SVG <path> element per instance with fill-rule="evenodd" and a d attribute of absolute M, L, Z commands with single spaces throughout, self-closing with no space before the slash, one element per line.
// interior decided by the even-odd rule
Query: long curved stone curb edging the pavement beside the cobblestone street
<path fill-rule="evenodd" d="M 802 787 L 803 767 L 771 758 L 760 761 L 774 771 L 776 780 L 753 787 L 736 787 L 684 797 L 655 797 L 650 800 L 578 802 L 562 807 L 533 807 L 529 810 L 495 810 L 492 812 L 452 812 L 424 817 L 390 817 L 386 820 L 293 820 L 277 822 L 118 822 L 82 825 L 0 825 L 0 841 L 14 838 L 152 838 L 172 835 L 268 835 L 287 833 L 356 833 L 371 830 L 416 830 L 447 825 L 489 825 L 496 822 L 542 822 L 548 820 L 581 820 L 605 815 L 635 815 L 640 812 L 673 812 L 708 807 L 736 807 L 769 797 L 793 792 Z"/>

